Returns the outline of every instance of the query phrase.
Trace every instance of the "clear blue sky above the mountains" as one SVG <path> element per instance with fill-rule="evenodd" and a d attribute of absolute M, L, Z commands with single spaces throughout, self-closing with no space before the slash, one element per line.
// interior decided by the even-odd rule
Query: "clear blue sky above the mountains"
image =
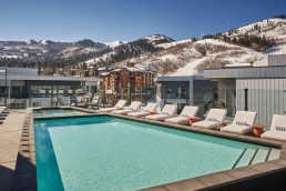
<path fill-rule="evenodd" d="M 0 40 L 175 40 L 228 31 L 276 14 L 286 0 L 0 0 Z"/>

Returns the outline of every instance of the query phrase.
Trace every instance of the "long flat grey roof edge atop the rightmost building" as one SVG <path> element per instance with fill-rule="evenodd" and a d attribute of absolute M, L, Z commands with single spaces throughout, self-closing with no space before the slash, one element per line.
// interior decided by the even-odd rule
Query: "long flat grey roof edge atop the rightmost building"
<path fill-rule="evenodd" d="M 205 78 L 286 78 L 286 66 L 205 69 Z"/>

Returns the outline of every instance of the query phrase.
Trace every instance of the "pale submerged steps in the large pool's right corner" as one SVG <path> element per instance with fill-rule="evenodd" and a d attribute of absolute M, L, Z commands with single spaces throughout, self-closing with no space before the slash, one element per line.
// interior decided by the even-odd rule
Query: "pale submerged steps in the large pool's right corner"
<path fill-rule="evenodd" d="M 238 157 L 237 161 L 234 163 L 233 168 L 255 164 L 259 162 L 265 162 L 268 160 L 277 159 L 280 154 L 278 149 L 246 149 Z"/>

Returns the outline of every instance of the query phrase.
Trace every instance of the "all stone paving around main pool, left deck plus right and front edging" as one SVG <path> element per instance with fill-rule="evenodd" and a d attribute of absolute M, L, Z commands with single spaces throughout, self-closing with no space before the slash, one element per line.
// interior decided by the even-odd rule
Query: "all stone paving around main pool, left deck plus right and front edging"
<path fill-rule="evenodd" d="M 191 128 L 190 125 L 151 121 L 141 118 L 99 113 L 96 111 L 79 108 L 74 109 L 90 112 L 90 114 L 88 115 L 106 114 L 115 118 L 159 124 L 166 128 L 210 134 L 233 140 L 241 140 L 249 143 L 270 145 L 280 149 L 279 159 L 276 160 L 206 174 L 177 182 L 171 182 L 167 184 L 144 189 L 145 191 L 229 190 L 229 188 L 234 188 L 234 185 L 236 189 L 232 190 L 252 190 L 252 188 L 257 189 L 257 184 L 261 184 L 259 187 L 262 188 L 265 188 L 266 185 L 270 187 L 272 189 L 286 188 L 286 142 L 221 132 L 217 130 Z M 274 185 L 269 185 L 270 180 L 274 181 Z M 0 188 L 1 191 L 37 190 L 32 109 L 12 111 L 4 120 L 4 123 L 0 124 Z"/>

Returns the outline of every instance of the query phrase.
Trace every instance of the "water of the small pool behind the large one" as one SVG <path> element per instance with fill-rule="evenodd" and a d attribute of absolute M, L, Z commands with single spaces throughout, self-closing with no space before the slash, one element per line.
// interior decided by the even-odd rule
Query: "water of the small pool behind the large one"
<path fill-rule="evenodd" d="M 79 114 L 86 114 L 86 112 L 78 111 L 73 109 L 41 109 L 41 110 L 33 110 L 33 117 L 41 118 L 41 117 L 70 117 L 70 115 L 79 115 Z"/>

